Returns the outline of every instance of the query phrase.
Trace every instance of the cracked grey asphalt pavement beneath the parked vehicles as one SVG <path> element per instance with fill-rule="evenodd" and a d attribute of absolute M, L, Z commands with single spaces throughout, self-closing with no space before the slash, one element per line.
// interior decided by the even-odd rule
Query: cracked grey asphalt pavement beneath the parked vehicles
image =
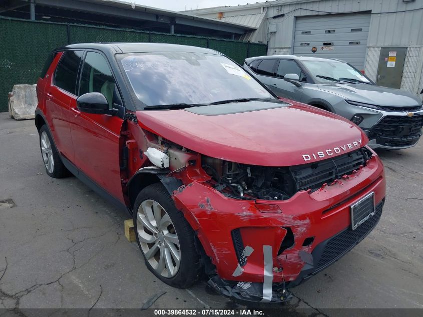
<path fill-rule="evenodd" d="M 378 154 L 387 181 L 379 224 L 276 308 L 423 308 L 423 141 Z M 125 238 L 128 218 L 77 178 L 50 178 L 34 120 L 0 114 L 0 308 L 243 307 L 205 281 L 177 289 L 158 280 Z"/>

